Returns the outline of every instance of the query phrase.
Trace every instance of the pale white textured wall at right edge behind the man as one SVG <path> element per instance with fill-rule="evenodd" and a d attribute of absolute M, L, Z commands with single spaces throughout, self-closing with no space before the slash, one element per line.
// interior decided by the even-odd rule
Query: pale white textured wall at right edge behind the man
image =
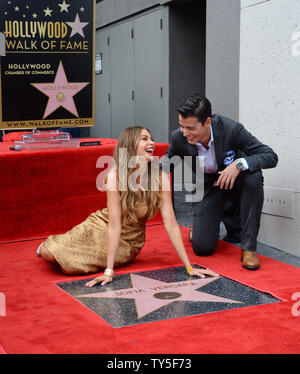
<path fill-rule="evenodd" d="M 299 0 L 241 0 L 240 121 L 279 156 L 278 166 L 264 171 L 264 211 L 266 205 L 272 208 L 273 204 L 276 214 L 263 214 L 259 241 L 297 256 L 300 256 L 299 15 Z M 270 203 L 272 193 L 278 198 Z M 284 194 L 288 196 L 285 204 L 281 198 Z M 289 213 L 285 214 L 287 210 Z"/>

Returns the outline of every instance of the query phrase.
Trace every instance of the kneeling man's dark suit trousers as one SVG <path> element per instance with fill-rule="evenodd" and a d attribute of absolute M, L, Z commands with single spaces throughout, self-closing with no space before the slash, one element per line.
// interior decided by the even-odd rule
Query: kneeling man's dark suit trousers
<path fill-rule="evenodd" d="M 232 209 L 232 201 L 239 206 Z M 233 189 L 219 187 L 204 189 L 204 197 L 193 205 L 192 246 L 196 255 L 209 256 L 218 245 L 220 222 L 223 220 L 228 229 L 240 213 L 241 247 L 247 251 L 256 251 L 257 235 L 264 201 L 262 171 L 242 171 L 236 178 Z M 228 204 L 229 202 L 229 204 Z M 231 208 L 230 208 L 231 206 Z M 229 207 L 229 209 L 228 209 Z M 226 214 L 224 215 L 224 208 Z M 229 212 L 232 212 L 230 220 Z M 236 222 L 236 229 L 239 229 Z"/>

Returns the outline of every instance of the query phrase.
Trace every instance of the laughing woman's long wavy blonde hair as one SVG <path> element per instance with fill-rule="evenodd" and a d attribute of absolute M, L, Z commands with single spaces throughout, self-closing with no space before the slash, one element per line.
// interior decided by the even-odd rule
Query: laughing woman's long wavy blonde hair
<path fill-rule="evenodd" d="M 131 223 L 137 223 L 136 209 L 140 198 L 138 193 L 130 188 L 128 179 L 130 175 L 137 169 L 129 167 L 128 163 L 132 157 L 137 155 L 137 147 L 140 141 L 142 130 L 150 131 L 141 126 L 133 126 L 125 129 L 118 140 L 114 150 L 114 161 L 116 166 L 117 176 L 119 177 L 119 186 L 121 198 L 121 214 L 122 219 L 126 218 Z M 151 133 L 150 133 L 151 134 Z M 125 152 L 123 149 L 125 148 Z M 142 199 L 147 201 L 148 212 L 145 219 L 149 220 L 161 207 L 161 172 L 159 170 L 158 162 L 150 161 L 147 165 L 147 183 L 148 188 L 141 191 Z"/>

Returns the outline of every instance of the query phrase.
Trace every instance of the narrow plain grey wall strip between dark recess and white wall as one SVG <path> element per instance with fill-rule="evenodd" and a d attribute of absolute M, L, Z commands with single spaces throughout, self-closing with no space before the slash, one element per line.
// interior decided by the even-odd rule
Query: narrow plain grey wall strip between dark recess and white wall
<path fill-rule="evenodd" d="M 206 96 L 214 113 L 238 120 L 240 0 L 206 3 Z"/>

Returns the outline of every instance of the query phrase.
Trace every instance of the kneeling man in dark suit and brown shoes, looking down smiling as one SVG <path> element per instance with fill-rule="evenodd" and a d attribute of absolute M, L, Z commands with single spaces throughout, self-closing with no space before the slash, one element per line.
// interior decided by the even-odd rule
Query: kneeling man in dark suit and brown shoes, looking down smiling
<path fill-rule="evenodd" d="M 242 266 L 258 269 L 256 242 L 264 200 L 261 169 L 275 167 L 277 155 L 242 124 L 212 115 L 204 96 L 186 98 L 178 113 L 180 128 L 172 132 L 167 157 L 192 156 L 193 165 L 197 156 L 204 157 L 204 195 L 193 205 L 194 252 L 198 256 L 214 252 L 222 220 L 227 236 L 239 240 L 240 235 Z"/>

